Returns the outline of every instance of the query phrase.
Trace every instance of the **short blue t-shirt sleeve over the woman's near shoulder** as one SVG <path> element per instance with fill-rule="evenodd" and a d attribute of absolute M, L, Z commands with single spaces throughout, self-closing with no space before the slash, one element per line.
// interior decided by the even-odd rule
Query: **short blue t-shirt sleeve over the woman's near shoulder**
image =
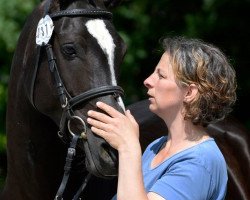
<path fill-rule="evenodd" d="M 175 163 L 150 188 L 167 200 L 207 199 L 212 183 L 209 172 L 195 162 Z"/>

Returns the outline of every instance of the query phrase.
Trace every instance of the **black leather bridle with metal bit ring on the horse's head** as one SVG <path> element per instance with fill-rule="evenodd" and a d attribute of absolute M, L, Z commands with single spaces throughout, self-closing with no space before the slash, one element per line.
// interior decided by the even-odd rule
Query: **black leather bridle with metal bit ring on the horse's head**
<path fill-rule="evenodd" d="M 61 17 L 77 17 L 77 16 L 85 16 L 85 17 L 90 17 L 90 18 L 104 18 L 104 19 L 111 19 L 112 18 L 112 13 L 108 12 L 106 10 L 100 10 L 100 9 L 72 9 L 72 10 L 62 10 L 62 11 L 57 11 L 51 14 L 48 14 L 49 8 L 50 8 L 51 0 L 47 1 L 47 4 L 45 5 L 45 11 L 44 11 L 44 17 L 46 15 L 49 15 L 51 19 L 56 19 L 56 18 L 61 18 Z M 51 72 L 54 85 L 57 90 L 57 95 L 59 96 L 60 104 L 63 109 L 62 112 L 62 117 L 60 120 L 60 127 L 59 127 L 59 136 L 63 137 L 63 134 L 65 134 L 65 126 L 66 124 L 68 125 L 68 131 L 72 136 L 71 142 L 70 142 L 70 147 L 68 148 L 68 153 L 66 157 L 66 163 L 64 166 L 64 176 L 62 179 L 62 182 L 60 184 L 60 187 L 57 191 L 57 194 L 55 196 L 55 200 L 58 199 L 63 199 L 63 193 L 66 187 L 66 184 L 68 182 L 69 174 L 70 174 L 70 169 L 71 169 L 71 163 L 74 159 L 75 156 L 75 148 L 77 145 L 77 141 L 79 138 L 87 139 L 86 136 L 86 124 L 85 122 L 78 116 L 74 114 L 73 108 L 76 106 L 87 102 L 91 99 L 101 97 L 101 96 L 106 96 L 106 95 L 114 95 L 115 98 L 119 97 L 120 95 L 123 95 L 123 89 L 119 86 L 113 86 L 113 85 L 107 85 L 107 86 L 101 86 L 98 88 L 90 89 L 86 92 L 83 92 L 77 96 L 72 97 L 68 92 L 67 89 L 65 88 L 62 79 L 60 77 L 59 71 L 57 69 L 57 64 L 56 64 L 56 58 L 53 53 L 52 45 L 51 44 L 46 44 L 42 46 L 37 46 L 37 59 L 36 59 L 36 64 L 35 64 L 35 69 L 34 73 L 31 79 L 31 89 L 30 89 L 30 101 L 31 104 L 33 105 L 34 108 L 36 108 L 35 103 L 34 103 L 34 87 L 35 87 L 35 80 L 37 76 L 37 71 L 38 71 L 38 65 L 39 65 L 39 57 L 40 57 L 40 51 L 41 48 L 45 47 L 46 48 L 46 53 L 47 53 L 47 58 L 48 58 L 48 65 L 49 65 L 49 70 Z M 80 123 L 83 125 L 83 132 L 81 134 L 75 134 L 71 128 L 70 128 L 70 122 L 71 120 L 79 120 Z M 78 199 L 81 192 L 85 188 L 89 178 L 90 174 L 86 176 L 84 179 L 82 185 L 78 189 L 77 193 L 73 197 L 74 200 Z"/>

